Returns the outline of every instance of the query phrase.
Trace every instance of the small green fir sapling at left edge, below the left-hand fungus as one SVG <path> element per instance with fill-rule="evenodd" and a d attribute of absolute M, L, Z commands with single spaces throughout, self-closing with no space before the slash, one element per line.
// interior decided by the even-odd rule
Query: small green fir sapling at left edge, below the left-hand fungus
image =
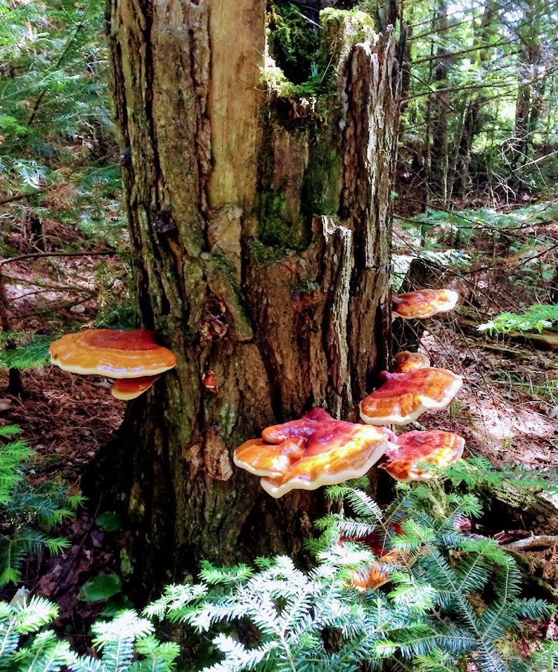
<path fill-rule="evenodd" d="M 27 555 L 60 553 L 69 546 L 49 531 L 83 500 L 51 481 L 37 486 L 28 481 L 24 467 L 33 452 L 24 440 L 11 440 L 19 431 L 13 425 L 0 427 L 0 587 L 20 581 Z"/>

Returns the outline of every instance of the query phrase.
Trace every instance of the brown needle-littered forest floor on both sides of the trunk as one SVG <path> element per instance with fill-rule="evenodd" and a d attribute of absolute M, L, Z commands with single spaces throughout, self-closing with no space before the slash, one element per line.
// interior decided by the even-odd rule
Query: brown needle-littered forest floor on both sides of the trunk
<path fill-rule="evenodd" d="M 498 466 L 558 468 L 556 344 L 552 338 L 491 336 L 475 328 L 500 310 L 521 312 L 524 305 L 545 303 L 545 299 L 551 303 L 552 274 L 548 269 L 555 269 L 558 263 L 558 213 L 554 218 L 551 210 L 551 215 L 541 220 L 531 213 L 524 225 L 512 227 L 507 222 L 504 230 L 496 233 L 494 227 L 487 231 L 483 220 L 460 245 L 455 239 L 446 240 L 444 222 L 438 222 L 429 230 L 430 240 L 436 241 L 430 249 L 417 243 L 420 224 L 413 227 L 413 222 L 396 220 L 396 257 L 409 260 L 422 256 L 431 274 L 420 277 L 423 269 L 413 277 L 413 269 L 408 269 L 404 289 L 418 289 L 421 281 L 427 281 L 460 293 L 455 312 L 425 324 L 407 324 L 404 332 L 399 329 L 396 333 L 400 341 L 414 339 L 415 348 L 420 341 L 418 347 L 429 355 L 433 366 L 448 368 L 464 378 L 462 391 L 448 409 L 424 414 L 415 429 L 457 431 L 465 437 L 469 455 L 484 455 Z M 479 213 L 471 215 L 477 216 Z M 44 247 L 60 251 L 63 241 L 72 236 L 75 233 L 69 227 L 51 222 L 44 229 Z M 13 220 L 7 240 L 14 256 L 37 251 L 26 239 L 23 219 Z M 46 355 L 52 334 L 80 327 L 132 326 L 125 257 L 100 241 L 82 240 L 80 246 L 86 252 L 79 257 L 39 256 L 0 267 L 9 327 L 13 332 L 25 332 L 24 344 L 30 334 L 34 336 L 39 355 Z M 447 262 L 448 249 L 460 253 L 460 262 Z M 465 263 L 463 255 L 467 255 Z M 415 328 L 421 331 L 413 334 Z M 394 343 L 394 350 L 398 347 Z M 6 369 L 0 371 L 0 391 L 4 391 L 0 392 L 0 423 L 18 424 L 37 452 L 33 478 L 64 479 L 79 491 L 87 465 L 115 435 L 126 402 L 112 397 L 111 383 L 105 379 L 74 376 L 50 365 L 22 370 L 20 377 L 24 392 L 11 395 L 6 393 Z M 100 609 L 96 603 L 79 602 L 79 587 L 91 576 L 117 571 L 117 549 L 111 535 L 95 524 L 99 512 L 101 509 L 83 509 L 65 528 L 70 550 L 60 557 L 41 557 L 28 567 L 32 588 L 58 601 L 63 618 L 72 621 L 72 632 L 85 633 L 85 624 L 91 623 Z M 556 514 L 555 521 L 533 521 L 520 514 L 507 519 L 499 516 L 489 526 L 484 521 L 481 529 L 505 540 L 533 533 L 556 535 L 558 508 Z M 547 544 L 538 549 L 536 558 L 547 566 L 545 576 L 555 588 L 557 549 L 557 544 Z"/>

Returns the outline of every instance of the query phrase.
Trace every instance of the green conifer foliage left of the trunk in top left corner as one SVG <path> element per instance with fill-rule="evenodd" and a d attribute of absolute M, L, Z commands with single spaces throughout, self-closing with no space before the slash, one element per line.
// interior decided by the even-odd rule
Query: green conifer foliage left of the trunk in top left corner
<path fill-rule="evenodd" d="M 125 218 L 103 5 L 0 0 L 0 191 L 15 196 L 6 208 L 18 215 L 119 247 Z M 71 236 L 65 249 L 82 251 L 83 239 Z"/>

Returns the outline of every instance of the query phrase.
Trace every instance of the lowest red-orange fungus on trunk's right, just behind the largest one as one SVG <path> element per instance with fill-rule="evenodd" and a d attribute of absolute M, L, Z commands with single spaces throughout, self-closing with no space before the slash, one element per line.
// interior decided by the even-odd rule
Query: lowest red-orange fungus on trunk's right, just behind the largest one
<path fill-rule="evenodd" d="M 446 467 L 463 455 L 465 439 L 449 431 L 408 431 L 386 450 L 387 462 L 379 464 L 396 481 L 427 481 L 436 476 L 432 467 Z M 420 466 L 419 466 L 420 465 Z"/>

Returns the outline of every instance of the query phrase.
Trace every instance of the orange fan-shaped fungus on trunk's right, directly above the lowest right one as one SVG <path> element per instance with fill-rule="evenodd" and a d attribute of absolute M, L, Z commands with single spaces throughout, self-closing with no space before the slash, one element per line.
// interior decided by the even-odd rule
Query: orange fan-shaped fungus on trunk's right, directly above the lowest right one
<path fill-rule="evenodd" d="M 380 376 L 382 386 L 361 401 L 361 418 L 372 425 L 404 425 L 431 408 L 446 408 L 463 384 L 461 376 L 433 367 Z"/>

